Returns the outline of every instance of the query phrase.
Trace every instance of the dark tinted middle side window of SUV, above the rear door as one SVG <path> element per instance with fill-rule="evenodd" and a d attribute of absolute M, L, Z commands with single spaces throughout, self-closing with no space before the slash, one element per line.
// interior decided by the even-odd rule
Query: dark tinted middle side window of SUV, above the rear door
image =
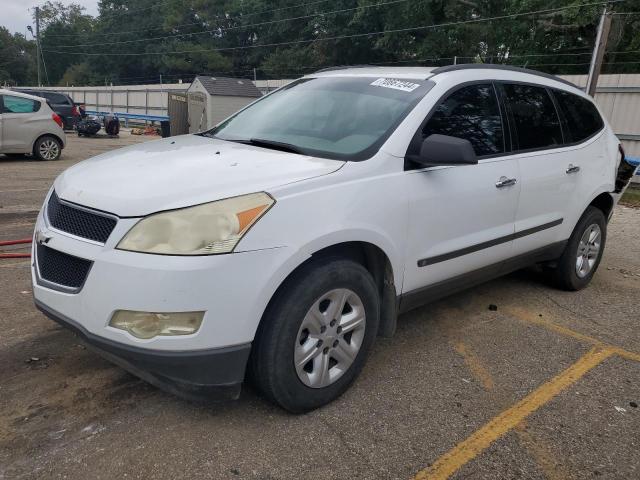
<path fill-rule="evenodd" d="M 515 130 L 514 150 L 562 145 L 560 119 L 546 88 L 509 83 L 503 88 Z"/>

